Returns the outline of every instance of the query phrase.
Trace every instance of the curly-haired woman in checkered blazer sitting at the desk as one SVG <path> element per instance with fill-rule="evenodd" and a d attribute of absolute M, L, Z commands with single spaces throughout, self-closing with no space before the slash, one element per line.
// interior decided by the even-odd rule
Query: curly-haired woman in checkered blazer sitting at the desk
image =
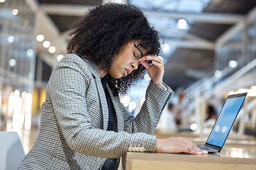
<path fill-rule="evenodd" d="M 203 154 L 182 138 L 151 135 L 173 91 L 162 81 L 159 38 L 142 11 L 105 4 L 73 28 L 68 55 L 48 82 L 38 138 L 20 169 L 117 169 L 127 151 Z M 119 95 L 144 71 L 151 82 L 134 118 Z"/>

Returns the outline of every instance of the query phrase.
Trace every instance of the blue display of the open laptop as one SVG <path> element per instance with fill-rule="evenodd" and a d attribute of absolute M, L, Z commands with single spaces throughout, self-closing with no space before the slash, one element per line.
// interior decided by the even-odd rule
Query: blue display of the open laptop
<path fill-rule="evenodd" d="M 225 101 L 225 105 L 223 106 L 223 109 L 218 116 L 218 120 L 216 121 L 213 130 L 208 137 L 208 144 L 223 147 L 225 139 L 228 135 L 228 132 L 230 131 L 231 126 L 233 125 L 233 121 L 235 120 L 235 117 L 244 98 L 245 96 L 238 98 L 228 98 Z"/>

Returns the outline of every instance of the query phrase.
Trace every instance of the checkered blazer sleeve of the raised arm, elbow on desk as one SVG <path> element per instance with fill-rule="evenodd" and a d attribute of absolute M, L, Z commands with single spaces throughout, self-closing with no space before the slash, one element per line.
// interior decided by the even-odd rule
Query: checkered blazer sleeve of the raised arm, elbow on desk
<path fill-rule="evenodd" d="M 163 83 L 164 88 L 161 88 L 150 82 L 146 89 L 145 101 L 137 116 L 134 118 L 126 108 L 124 108 L 125 120 L 124 130 L 130 133 L 145 132 L 152 134 L 156 129 L 164 107 L 169 102 L 174 91 Z"/>

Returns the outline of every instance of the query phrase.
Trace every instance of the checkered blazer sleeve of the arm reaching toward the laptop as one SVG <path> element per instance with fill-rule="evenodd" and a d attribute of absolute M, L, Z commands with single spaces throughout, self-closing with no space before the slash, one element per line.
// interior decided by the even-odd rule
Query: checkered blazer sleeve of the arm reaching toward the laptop
<path fill-rule="evenodd" d="M 68 146 L 75 152 L 92 157 L 121 157 L 131 146 L 154 152 L 155 136 L 92 127 L 85 98 L 89 84 L 90 78 L 70 67 L 57 67 L 48 82 L 50 102 Z"/>

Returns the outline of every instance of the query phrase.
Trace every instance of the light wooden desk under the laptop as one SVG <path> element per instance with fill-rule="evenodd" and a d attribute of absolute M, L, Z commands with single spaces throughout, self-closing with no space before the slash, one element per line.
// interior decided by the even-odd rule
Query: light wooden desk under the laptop
<path fill-rule="evenodd" d="M 256 169 L 256 149 L 223 148 L 218 154 L 159 154 L 127 152 L 122 157 L 124 170 L 203 170 Z"/>

